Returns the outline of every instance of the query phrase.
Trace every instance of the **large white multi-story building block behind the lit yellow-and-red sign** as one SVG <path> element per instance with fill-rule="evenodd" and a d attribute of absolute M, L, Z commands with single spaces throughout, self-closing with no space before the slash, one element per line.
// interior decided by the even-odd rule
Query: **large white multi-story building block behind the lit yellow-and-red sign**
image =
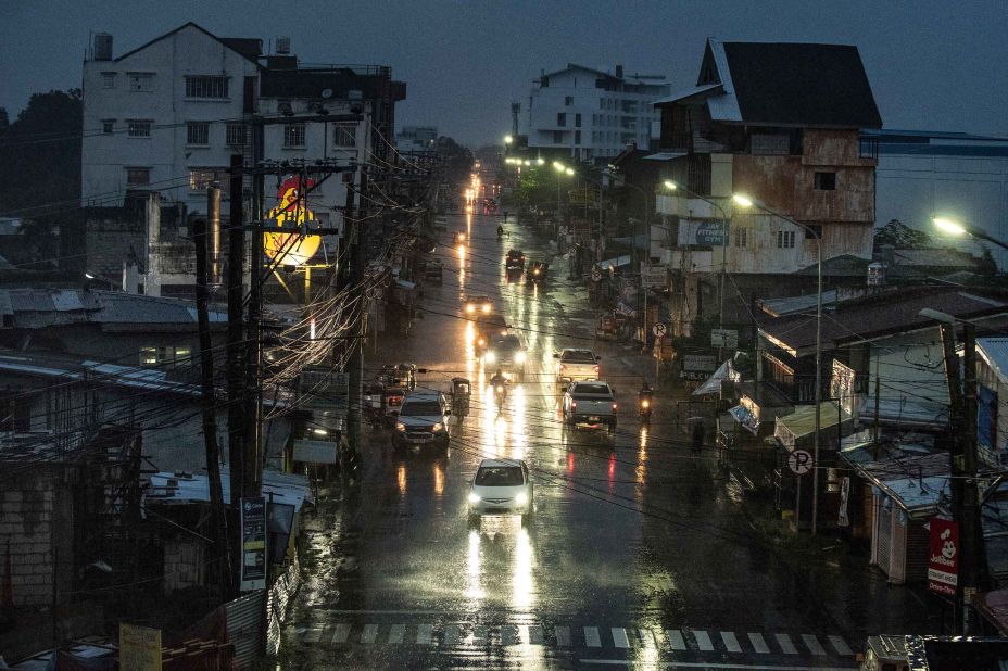
<path fill-rule="evenodd" d="M 113 58 L 112 36 L 96 36 L 84 63 L 81 204 L 119 206 L 128 191 L 156 191 L 163 204 L 205 212 L 206 186 L 218 180 L 227 189 L 231 156 L 251 159 L 253 115 L 267 121 L 267 163 L 336 160 L 360 173 L 390 153 L 379 138 L 391 137 L 394 104 L 405 98 L 390 68 L 302 67 L 288 38 L 276 40 L 275 54 L 262 47 L 261 39 L 220 38 L 187 23 Z M 350 113 L 361 121 L 297 119 Z M 286 116 L 293 123 L 282 123 Z M 275 202 L 269 182 L 267 208 Z M 344 180 L 335 176 L 310 206 L 316 218 L 339 226 L 345 201 Z"/>

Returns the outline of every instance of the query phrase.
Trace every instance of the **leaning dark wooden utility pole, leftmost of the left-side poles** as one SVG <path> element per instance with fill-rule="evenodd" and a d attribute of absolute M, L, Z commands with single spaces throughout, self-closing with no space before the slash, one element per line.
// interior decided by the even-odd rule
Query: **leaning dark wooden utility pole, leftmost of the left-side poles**
<path fill-rule="evenodd" d="M 216 194 L 214 193 L 216 191 Z M 216 198 L 220 202 L 220 189 L 210 188 L 210 201 Z M 213 559 L 220 581 L 220 600 L 227 602 L 232 596 L 235 582 L 231 573 L 230 547 L 227 537 L 227 514 L 224 509 L 224 492 L 220 481 L 220 451 L 217 446 L 216 393 L 214 390 L 213 342 L 210 337 L 210 316 L 206 312 L 209 296 L 207 286 L 207 248 L 212 246 L 212 236 L 207 235 L 206 221 L 194 223 L 196 242 L 196 313 L 200 331 L 200 382 L 201 410 L 203 415 L 203 445 L 206 452 L 206 477 L 210 482 L 210 515 Z"/>

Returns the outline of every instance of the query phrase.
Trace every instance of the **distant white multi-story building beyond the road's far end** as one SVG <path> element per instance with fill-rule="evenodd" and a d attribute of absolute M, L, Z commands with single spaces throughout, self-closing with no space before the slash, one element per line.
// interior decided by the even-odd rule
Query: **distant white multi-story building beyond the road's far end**
<path fill-rule="evenodd" d="M 669 94 L 664 75 L 625 75 L 568 63 L 542 74 L 529 96 L 529 149 L 550 156 L 595 161 L 628 144 L 641 149 L 657 137 L 660 114 L 652 103 Z"/>

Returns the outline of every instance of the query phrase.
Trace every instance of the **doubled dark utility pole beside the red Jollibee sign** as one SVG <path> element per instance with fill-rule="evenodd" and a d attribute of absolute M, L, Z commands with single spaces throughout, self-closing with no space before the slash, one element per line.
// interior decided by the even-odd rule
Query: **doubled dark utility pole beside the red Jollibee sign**
<path fill-rule="evenodd" d="M 940 328 L 949 398 L 953 516 L 960 526 L 961 571 L 956 586 L 956 625 L 958 633 L 969 635 L 980 632 L 972 603 L 978 590 L 985 588 L 988 581 L 976 480 L 976 327 L 963 322 L 965 389 L 959 385 L 955 322 L 942 322 Z"/>

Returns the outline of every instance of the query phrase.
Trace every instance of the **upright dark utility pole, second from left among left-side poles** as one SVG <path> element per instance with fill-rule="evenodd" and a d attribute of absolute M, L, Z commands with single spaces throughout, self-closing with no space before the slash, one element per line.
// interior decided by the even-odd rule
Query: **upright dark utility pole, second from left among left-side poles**
<path fill-rule="evenodd" d="M 227 445 L 230 461 L 231 506 L 237 509 L 244 496 L 245 463 L 245 404 L 244 362 L 242 354 L 242 276 L 244 261 L 244 230 L 242 213 L 243 156 L 231 156 L 230 217 L 227 226 Z M 257 278 L 256 278 L 257 279 Z M 234 535 L 234 534 L 232 534 Z"/>

